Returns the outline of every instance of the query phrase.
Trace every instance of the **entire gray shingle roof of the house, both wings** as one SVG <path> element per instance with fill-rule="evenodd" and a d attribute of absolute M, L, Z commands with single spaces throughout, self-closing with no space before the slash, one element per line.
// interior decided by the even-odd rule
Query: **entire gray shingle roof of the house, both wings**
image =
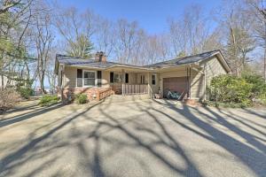
<path fill-rule="evenodd" d="M 156 63 L 152 65 L 144 65 L 144 66 L 119 64 L 119 63 L 114 63 L 114 62 L 109 62 L 109 61 L 98 62 L 94 58 L 82 59 L 82 58 L 74 58 L 74 57 L 69 57 L 69 56 L 59 55 L 59 54 L 57 55 L 57 60 L 59 64 L 88 66 L 88 67 L 102 68 L 102 69 L 106 69 L 112 66 L 129 66 L 129 67 L 137 67 L 137 68 L 143 68 L 143 69 L 153 69 L 153 68 L 163 68 L 163 67 L 169 67 L 169 66 L 187 65 L 187 64 L 197 63 L 202 60 L 211 58 L 217 53 L 222 54 L 220 50 L 213 50 L 213 51 L 207 51 L 207 52 L 200 53 L 200 54 L 193 55 L 193 56 L 188 56 L 184 58 L 174 58 L 174 59 L 163 61 L 160 63 Z"/>

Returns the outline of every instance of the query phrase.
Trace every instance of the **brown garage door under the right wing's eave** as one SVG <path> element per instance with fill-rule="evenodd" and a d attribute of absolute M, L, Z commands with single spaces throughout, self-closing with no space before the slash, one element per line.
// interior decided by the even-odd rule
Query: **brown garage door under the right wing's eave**
<path fill-rule="evenodd" d="M 176 91 L 178 93 L 187 92 L 187 78 L 186 77 L 173 77 L 163 78 L 163 96 L 166 97 L 168 90 Z"/>

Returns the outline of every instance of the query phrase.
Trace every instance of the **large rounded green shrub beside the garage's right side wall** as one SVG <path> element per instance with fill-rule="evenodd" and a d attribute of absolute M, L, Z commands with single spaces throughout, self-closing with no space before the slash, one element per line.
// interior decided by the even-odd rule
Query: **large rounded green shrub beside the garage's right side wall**
<path fill-rule="evenodd" d="M 245 79 L 232 75 L 220 75 L 210 84 L 210 101 L 227 104 L 251 104 L 253 85 Z"/>

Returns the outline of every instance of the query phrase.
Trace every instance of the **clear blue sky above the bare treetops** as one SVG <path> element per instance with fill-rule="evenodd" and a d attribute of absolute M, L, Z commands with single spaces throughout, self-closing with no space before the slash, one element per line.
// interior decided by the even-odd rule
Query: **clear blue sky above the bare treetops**
<path fill-rule="evenodd" d="M 200 4 L 209 12 L 222 0 L 58 0 L 65 7 L 79 11 L 90 9 L 107 19 L 137 20 L 149 34 L 167 30 L 167 19 L 178 18 L 190 4 Z"/>

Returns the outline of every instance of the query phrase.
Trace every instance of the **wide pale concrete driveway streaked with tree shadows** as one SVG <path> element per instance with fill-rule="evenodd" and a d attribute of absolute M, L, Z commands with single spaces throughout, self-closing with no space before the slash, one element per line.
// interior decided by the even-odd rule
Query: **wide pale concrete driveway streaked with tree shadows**
<path fill-rule="evenodd" d="M 152 100 L 0 118 L 0 176 L 266 176 L 266 111 Z"/>

